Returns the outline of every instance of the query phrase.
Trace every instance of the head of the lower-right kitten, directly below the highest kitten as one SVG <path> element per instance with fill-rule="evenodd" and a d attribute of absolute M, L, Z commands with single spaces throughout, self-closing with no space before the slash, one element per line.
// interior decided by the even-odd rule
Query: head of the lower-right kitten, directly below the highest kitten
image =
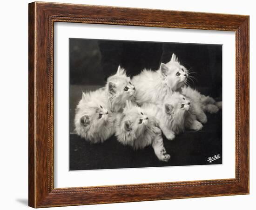
<path fill-rule="evenodd" d="M 175 92 L 164 103 L 164 112 L 175 117 L 182 117 L 191 108 L 190 101 L 183 95 Z"/>

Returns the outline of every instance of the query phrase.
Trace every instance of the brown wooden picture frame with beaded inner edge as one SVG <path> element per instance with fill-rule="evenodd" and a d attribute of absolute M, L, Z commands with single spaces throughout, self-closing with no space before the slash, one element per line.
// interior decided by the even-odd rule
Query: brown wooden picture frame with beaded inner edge
<path fill-rule="evenodd" d="M 249 16 L 29 4 L 29 206 L 34 208 L 249 194 Z M 236 33 L 236 178 L 54 188 L 54 22 Z M 230 70 L 231 71 L 231 70 Z"/>

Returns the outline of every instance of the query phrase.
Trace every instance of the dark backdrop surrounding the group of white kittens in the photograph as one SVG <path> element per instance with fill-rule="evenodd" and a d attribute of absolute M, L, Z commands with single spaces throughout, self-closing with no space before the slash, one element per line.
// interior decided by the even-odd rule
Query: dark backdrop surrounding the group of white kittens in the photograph
<path fill-rule="evenodd" d="M 220 154 L 211 164 L 222 164 L 222 112 L 208 114 L 202 131 L 186 131 L 175 140 L 164 138 L 171 159 L 160 162 L 151 146 L 133 151 L 116 141 L 115 136 L 103 144 L 90 144 L 74 133 L 74 110 L 82 91 L 95 90 L 106 83 L 121 65 L 128 76 L 142 69 L 157 70 L 175 53 L 181 64 L 195 72 L 190 83 L 201 93 L 222 100 L 222 45 L 163 42 L 69 39 L 69 169 L 109 169 L 154 166 L 209 164 L 207 158 Z"/>

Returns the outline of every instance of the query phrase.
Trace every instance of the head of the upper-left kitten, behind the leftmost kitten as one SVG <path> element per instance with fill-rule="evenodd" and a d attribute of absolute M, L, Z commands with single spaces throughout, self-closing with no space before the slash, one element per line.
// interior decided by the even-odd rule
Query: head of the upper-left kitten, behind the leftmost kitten
<path fill-rule="evenodd" d="M 120 97 L 124 102 L 135 94 L 135 86 L 131 83 L 130 77 L 126 76 L 124 69 L 118 67 L 115 75 L 108 78 L 108 92 Z"/>

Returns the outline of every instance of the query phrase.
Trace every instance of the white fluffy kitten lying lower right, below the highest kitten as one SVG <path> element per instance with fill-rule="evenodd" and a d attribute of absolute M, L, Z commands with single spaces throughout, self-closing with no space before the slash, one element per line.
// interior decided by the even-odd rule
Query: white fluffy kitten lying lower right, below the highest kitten
<path fill-rule="evenodd" d="M 174 139 L 185 128 L 199 131 L 203 127 L 196 120 L 194 104 L 178 92 L 167 97 L 162 105 L 144 104 L 142 109 L 150 110 L 156 116 L 163 134 L 169 140 Z"/>

